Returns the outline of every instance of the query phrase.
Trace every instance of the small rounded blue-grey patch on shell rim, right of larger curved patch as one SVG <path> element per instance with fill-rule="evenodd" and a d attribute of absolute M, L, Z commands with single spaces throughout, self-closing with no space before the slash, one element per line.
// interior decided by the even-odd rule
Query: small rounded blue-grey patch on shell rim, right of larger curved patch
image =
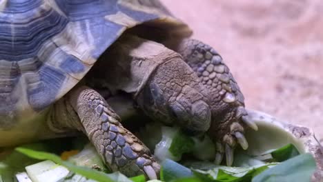
<path fill-rule="evenodd" d="M 79 73 L 85 70 L 84 64 L 72 55 L 68 55 L 59 67 L 67 73 Z"/>

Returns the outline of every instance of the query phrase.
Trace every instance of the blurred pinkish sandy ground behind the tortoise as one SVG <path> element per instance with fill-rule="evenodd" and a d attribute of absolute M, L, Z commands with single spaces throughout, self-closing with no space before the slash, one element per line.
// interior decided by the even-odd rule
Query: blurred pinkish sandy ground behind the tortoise
<path fill-rule="evenodd" d="M 322 0 L 161 0 L 226 61 L 246 107 L 323 139 Z"/>

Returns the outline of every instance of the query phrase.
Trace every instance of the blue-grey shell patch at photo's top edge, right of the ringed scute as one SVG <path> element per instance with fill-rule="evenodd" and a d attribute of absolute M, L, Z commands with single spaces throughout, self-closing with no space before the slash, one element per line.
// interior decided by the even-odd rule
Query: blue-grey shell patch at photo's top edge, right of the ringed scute
<path fill-rule="evenodd" d="M 104 17 L 118 11 L 117 0 L 56 0 L 56 3 L 70 21 Z"/>

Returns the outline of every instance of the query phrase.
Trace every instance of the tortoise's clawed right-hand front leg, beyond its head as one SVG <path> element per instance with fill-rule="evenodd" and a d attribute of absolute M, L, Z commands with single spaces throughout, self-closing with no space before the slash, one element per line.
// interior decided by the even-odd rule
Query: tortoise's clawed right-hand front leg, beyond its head
<path fill-rule="evenodd" d="M 222 57 L 209 45 L 194 39 L 184 39 L 173 46 L 184 61 L 196 72 L 200 82 L 211 97 L 212 122 L 208 134 L 217 141 L 216 163 L 226 153 L 226 164 L 233 163 L 236 142 L 246 150 L 244 138 L 246 125 L 257 130 L 257 125 L 248 120 L 244 109 L 244 96 Z"/>

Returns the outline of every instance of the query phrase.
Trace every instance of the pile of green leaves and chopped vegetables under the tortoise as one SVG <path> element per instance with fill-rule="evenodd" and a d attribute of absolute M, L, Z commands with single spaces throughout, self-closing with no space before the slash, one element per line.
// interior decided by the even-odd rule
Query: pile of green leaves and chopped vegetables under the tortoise
<path fill-rule="evenodd" d="M 292 144 L 260 156 L 238 151 L 235 167 L 226 167 L 210 162 L 215 150 L 207 137 L 197 139 L 167 127 L 161 127 L 159 133 L 161 141 L 155 144 L 155 155 L 161 161 L 161 181 L 309 181 L 315 170 L 313 156 L 299 154 Z M 148 143 L 158 141 L 156 137 L 146 139 L 154 140 L 144 141 Z M 110 173 L 92 145 L 84 147 L 84 141 L 70 139 L 68 147 L 59 149 L 59 139 L 16 148 L 0 162 L 0 181 L 146 181 L 143 175 L 127 178 L 119 172 Z M 75 155 L 70 157 L 57 155 L 64 150 L 81 152 L 71 152 Z"/>

